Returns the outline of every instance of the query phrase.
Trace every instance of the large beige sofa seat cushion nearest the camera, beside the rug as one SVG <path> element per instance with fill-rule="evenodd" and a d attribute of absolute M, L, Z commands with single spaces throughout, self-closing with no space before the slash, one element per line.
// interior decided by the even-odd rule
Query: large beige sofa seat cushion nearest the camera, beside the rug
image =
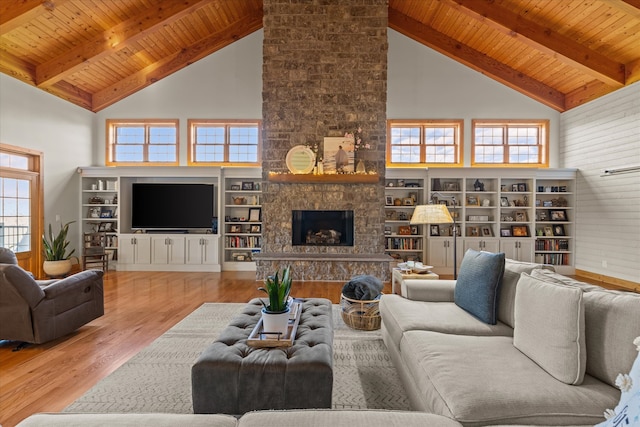
<path fill-rule="evenodd" d="M 589 375 L 578 387 L 557 381 L 509 337 L 409 331 L 400 352 L 419 390 L 411 400 L 465 426 L 593 425 L 620 397 Z"/>

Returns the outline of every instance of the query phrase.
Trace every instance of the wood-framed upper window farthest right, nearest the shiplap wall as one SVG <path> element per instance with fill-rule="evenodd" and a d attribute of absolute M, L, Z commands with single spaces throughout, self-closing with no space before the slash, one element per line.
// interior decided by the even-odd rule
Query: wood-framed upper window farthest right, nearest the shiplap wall
<path fill-rule="evenodd" d="M 473 120 L 472 127 L 472 165 L 549 164 L 548 120 Z"/>

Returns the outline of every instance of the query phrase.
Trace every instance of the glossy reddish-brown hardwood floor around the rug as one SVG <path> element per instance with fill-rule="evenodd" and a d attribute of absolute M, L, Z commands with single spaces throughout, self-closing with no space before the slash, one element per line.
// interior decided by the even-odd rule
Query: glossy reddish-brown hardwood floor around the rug
<path fill-rule="evenodd" d="M 0 425 L 14 426 L 36 412 L 59 412 L 201 304 L 247 302 L 262 296 L 260 285 L 253 272 L 110 271 L 104 316 L 17 352 L 15 342 L 0 341 Z M 293 294 L 338 303 L 342 285 L 297 282 Z M 384 292 L 391 292 L 390 284 Z"/>

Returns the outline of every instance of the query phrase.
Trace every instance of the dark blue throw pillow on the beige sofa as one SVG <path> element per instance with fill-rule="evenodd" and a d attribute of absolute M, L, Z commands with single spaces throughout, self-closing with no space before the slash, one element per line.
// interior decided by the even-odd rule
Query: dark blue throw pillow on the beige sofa
<path fill-rule="evenodd" d="M 453 300 L 458 307 L 490 325 L 497 322 L 498 293 L 504 254 L 468 249 L 460 264 Z"/>

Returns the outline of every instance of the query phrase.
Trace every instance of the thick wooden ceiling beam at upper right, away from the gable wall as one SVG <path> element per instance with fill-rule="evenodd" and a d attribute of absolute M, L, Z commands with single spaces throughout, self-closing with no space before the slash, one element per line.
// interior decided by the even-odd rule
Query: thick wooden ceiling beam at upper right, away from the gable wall
<path fill-rule="evenodd" d="M 602 80 L 607 85 L 621 88 L 625 84 L 624 64 L 613 61 L 517 13 L 496 6 L 491 0 L 444 0 L 444 2 L 505 35 L 517 37 L 522 43 L 545 52 L 595 79 Z"/>

